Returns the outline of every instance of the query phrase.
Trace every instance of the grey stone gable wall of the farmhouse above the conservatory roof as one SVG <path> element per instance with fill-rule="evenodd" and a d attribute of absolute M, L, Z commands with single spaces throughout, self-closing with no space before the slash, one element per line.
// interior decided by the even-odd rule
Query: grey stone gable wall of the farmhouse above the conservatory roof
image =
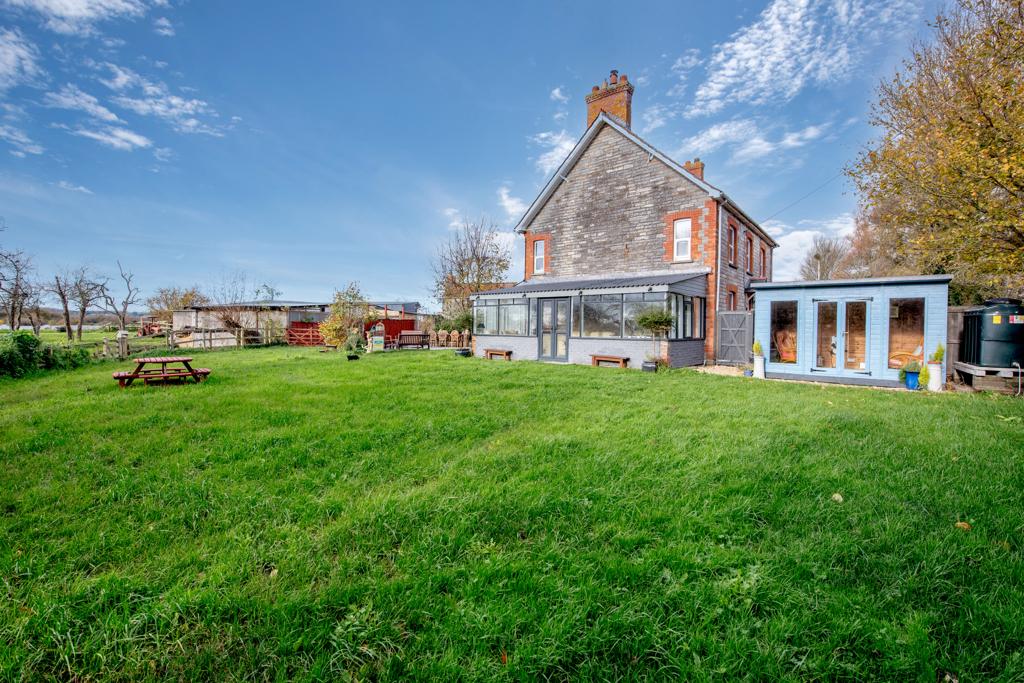
<path fill-rule="evenodd" d="M 530 236 L 547 236 L 550 260 L 543 275 L 531 274 L 586 278 L 700 267 L 714 261 L 713 240 L 694 239 L 691 261 L 666 261 L 666 216 L 697 211 L 696 237 L 708 221 L 717 221 L 716 207 L 700 187 L 606 126 L 528 226 L 527 243 Z"/>

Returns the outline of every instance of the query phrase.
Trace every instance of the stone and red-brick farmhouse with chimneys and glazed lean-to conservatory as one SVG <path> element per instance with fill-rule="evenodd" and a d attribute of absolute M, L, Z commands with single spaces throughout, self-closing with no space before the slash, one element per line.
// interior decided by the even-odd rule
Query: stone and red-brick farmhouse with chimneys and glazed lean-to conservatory
<path fill-rule="evenodd" d="M 777 244 L 699 159 L 679 164 L 631 129 L 633 84 L 612 71 L 587 96 L 587 131 L 516 231 L 525 272 L 473 297 L 476 354 L 640 367 L 654 350 L 637 318 L 676 326 L 657 354 L 672 366 L 716 358 L 719 311 L 750 309 L 771 281 Z"/>

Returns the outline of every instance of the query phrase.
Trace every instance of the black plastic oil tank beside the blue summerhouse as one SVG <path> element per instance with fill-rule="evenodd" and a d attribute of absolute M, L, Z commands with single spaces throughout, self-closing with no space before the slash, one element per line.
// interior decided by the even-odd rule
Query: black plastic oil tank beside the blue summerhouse
<path fill-rule="evenodd" d="M 1024 367 L 1024 305 L 1020 299 L 989 299 L 964 311 L 964 362 L 988 368 Z"/>

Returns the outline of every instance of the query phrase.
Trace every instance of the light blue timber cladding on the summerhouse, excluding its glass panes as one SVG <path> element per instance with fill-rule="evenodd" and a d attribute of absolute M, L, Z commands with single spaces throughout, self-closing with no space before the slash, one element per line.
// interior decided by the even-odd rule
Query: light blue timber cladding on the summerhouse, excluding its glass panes
<path fill-rule="evenodd" d="M 817 287 L 805 285 L 759 288 L 755 286 L 754 338 L 761 342 L 766 356 L 765 371 L 775 377 L 799 379 L 851 379 L 856 383 L 887 385 L 899 380 L 899 370 L 889 368 L 889 303 L 893 299 L 925 300 L 925 359 L 942 344 L 947 347 L 946 315 L 949 297 L 946 282 L 874 283 L 846 281 Z M 797 362 L 771 362 L 771 304 L 773 301 L 797 302 Z M 816 309 L 819 301 L 836 301 L 839 305 L 837 327 L 843 330 L 844 303 L 867 302 L 867 368 L 864 371 L 842 368 L 814 368 Z M 946 362 L 949 359 L 946 358 Z"/>

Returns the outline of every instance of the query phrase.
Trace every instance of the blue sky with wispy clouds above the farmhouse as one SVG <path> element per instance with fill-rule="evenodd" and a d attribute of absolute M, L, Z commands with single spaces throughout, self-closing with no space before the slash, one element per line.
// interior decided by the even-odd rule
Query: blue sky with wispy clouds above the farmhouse
<path fill-rule="evenodd" d="M 0 244 L 41 274 L 120 259 L 146 291 L 244 271 L 435 306 L 462 217 L 507 230 L 521 276 L 511 226 L 609 69 L 636 84 L 634 130 L 777 236 L 776 280 L 850 229 L 836 176 L 933 5 L 623 7 L 0 0 Z"/>

